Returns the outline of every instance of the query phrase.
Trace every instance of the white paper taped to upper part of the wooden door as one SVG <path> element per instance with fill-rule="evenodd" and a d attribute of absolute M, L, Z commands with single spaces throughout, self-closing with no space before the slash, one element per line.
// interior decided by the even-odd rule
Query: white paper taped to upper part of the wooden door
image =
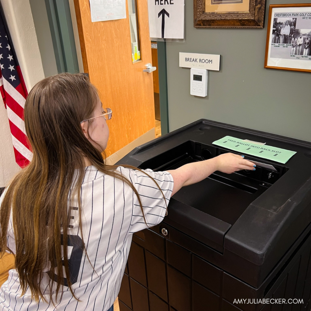
<path fill-rule="evenodd" d="M 92 21 L 126 18 L 125 0 L 90 0 L 90 7 Z"/>

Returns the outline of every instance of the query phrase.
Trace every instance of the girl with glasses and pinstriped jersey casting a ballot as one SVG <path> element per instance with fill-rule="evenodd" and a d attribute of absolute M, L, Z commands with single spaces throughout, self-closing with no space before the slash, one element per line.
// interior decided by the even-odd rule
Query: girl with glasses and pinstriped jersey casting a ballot
<path fill-rule="evenodd" d="M 132 234 L 159 224 L 181 187 L 216 170 L 254 169 L 229 153 L 168 172 L 105 165 L 111 116 L 82 74 L 48 77 L 30 91 L 33 159 L 0 199 L 0 248 L 16 255 L 2 310 L 113 310 Z"/>

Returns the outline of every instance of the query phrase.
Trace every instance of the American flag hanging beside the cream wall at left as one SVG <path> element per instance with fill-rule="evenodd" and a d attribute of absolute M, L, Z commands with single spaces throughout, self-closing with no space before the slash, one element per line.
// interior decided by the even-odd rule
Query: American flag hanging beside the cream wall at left
<path fill-rule="evenodd" d="M 0 66 L 0 91 L 9 118 L 15 160 L 19 166 L 25 167 L 32 158 L 24 123 L 24 106 L 28 93 L 2 11 L 0 14 Z"/>

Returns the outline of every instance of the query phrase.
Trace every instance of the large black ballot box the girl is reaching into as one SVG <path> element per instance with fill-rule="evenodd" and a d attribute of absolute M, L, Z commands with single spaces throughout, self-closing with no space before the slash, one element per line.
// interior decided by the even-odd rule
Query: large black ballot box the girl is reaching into
<path fill-rule="evenodd" d="M 199 120 L 135 148 L 118 162 L 164 171 L 229 149 L 232 136 L 297 153 L 285 164 L 215 172 L 183 187 L 168 215 L 133 235 L 121 311 L 311 309 L 311 143 Z"/>

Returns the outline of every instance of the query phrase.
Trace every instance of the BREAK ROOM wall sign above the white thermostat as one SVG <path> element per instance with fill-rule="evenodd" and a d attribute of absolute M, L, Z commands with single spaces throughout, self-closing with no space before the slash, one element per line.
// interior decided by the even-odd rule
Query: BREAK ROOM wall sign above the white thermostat
<path fill-rule="evenodd" d="M 179 67 L 220 70 L 220 55 L 179 52 Z"/>

